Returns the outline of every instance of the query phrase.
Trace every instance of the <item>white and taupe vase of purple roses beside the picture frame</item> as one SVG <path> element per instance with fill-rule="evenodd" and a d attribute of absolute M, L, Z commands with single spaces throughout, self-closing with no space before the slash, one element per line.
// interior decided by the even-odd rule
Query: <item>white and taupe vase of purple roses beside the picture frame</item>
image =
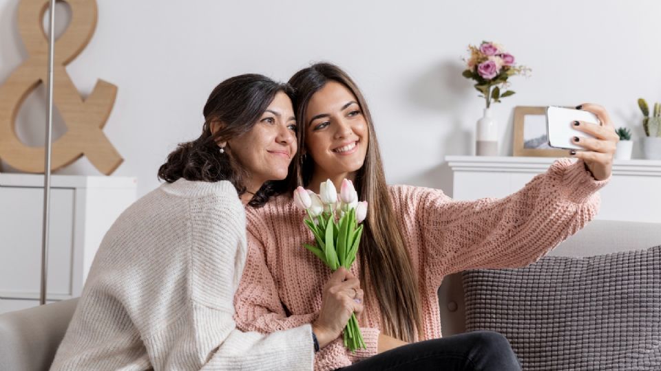
<path fill-rule="evenodd" d="M 498 124 L 492 117 L 491 104 L 500 103 L 502 98 L 514 95 L 507 89 L 507 79 L 511 76 L 528 76 L 530 69 L 516 65 L 514 56 L 505 51 L 502 45 L 483 41 L 479 47 L 468 45 L 470 57 L 465 59 L 466 69 L 462 75 L 475 81 L 475 89 L 485 99 L 483 117 L 476 128 L 476 155 L 498 155 Z"/>

